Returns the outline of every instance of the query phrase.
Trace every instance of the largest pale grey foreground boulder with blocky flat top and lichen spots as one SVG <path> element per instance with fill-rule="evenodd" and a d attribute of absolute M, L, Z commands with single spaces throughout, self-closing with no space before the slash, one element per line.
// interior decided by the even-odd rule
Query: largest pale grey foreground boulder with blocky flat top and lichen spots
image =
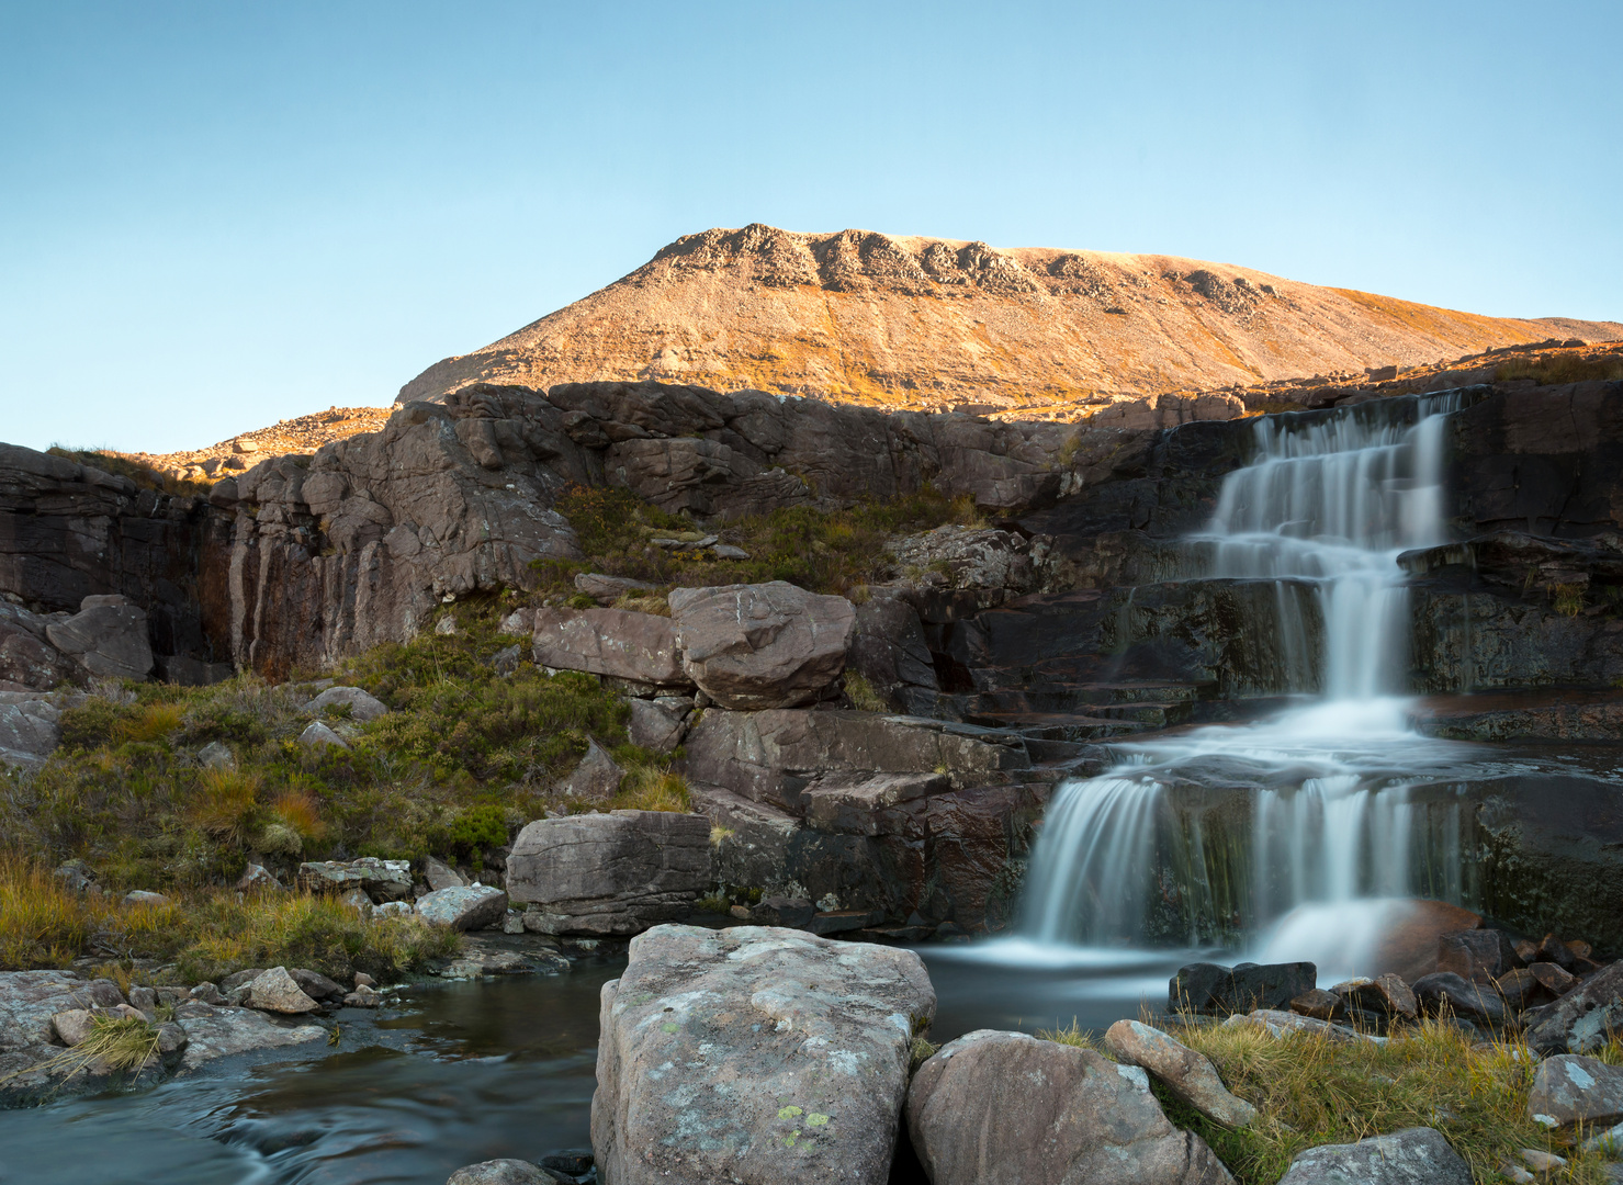
<path fill-rule="evenodd" d="M 933 1016 L 912 951 L 649 930 L 602 989 L 597 1170 L 615 1185 L 885 1180 L 914 1026 Z"/>

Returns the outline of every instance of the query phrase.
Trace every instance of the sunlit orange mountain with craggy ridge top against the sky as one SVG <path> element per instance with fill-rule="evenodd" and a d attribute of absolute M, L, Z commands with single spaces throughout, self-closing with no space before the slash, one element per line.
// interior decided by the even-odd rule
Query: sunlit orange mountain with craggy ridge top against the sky
<path fill-rule="evenodd" d="M 661 380 L 842 403 L 1037 409 L 1415 365 L 1623 325 L 1513 320 L 1167 255 L 704 231 L 406 383 Z"/>

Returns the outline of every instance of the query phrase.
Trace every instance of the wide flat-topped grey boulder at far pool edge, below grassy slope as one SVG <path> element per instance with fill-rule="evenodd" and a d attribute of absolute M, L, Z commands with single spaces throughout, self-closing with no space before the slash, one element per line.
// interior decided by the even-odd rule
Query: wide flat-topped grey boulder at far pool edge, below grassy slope
<path fill-rule="evenodd" d="M 506 868 L 540 933 L 639 933 L 685 917 L 711 883 L 709 820 L 657 810 L 536 820 Z"/>

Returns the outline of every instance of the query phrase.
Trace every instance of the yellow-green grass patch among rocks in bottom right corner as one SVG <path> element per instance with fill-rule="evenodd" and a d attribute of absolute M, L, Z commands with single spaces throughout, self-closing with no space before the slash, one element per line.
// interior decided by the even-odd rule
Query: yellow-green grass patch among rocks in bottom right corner
<path fill-rule="evenodd" d="M 1261 1112 L 1251 1128 L 1229 1130 L 1151 1078 L 1167 1117 L 1206 1140 L 1240 1185 L 1272 1185 L 1307 1148 L 1412 1127 L 1441 1131 L 1479 1182 L 1501 1180 L 1500 1166 L 1519 1164 L 1522 1148 L 1566 1157 L 1563 1182 L 1608 1180 L 1604 1154 L 1558 1144 L 1527 1117 L 1534 1060 L 1519 1042 L 1477 1042 L 1440 1021 L 1396 1029 L 1383 1045 L 1310 1032 L 1274 1037 L 1238 1024 L 1146 1023 L 1209 1057 L 1229 1089 Z M 1105 1052 L 1074 1021 L 1039 1036 Z M 1623 1044 L 1613 1042 L 1599 1057 L 1623 1063 Z"/>

